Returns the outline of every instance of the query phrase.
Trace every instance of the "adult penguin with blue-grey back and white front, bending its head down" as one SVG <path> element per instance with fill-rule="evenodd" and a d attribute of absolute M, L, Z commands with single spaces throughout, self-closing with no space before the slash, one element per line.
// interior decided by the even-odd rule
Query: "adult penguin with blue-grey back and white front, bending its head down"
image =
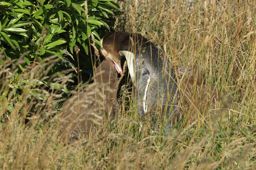
<path fill-rule="evenodd" d="M 156 111 L 168 133 L 180 115 L 180 93 L 175 71 L 160 48 L 140 34 L 112 32 L 102 39 L 102 54 L 118 65 L 122 57 L 126 58 L 137 97 L 137 114 L 142 117 Z"/>

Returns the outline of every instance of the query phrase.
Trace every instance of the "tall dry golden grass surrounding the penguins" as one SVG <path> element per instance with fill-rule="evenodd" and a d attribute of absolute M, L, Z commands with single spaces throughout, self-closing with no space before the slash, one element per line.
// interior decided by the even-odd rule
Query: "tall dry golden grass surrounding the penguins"
<path fill-rule="evenodd" d="M 127 112 L 121 109 L 116 128 L 105 127 L 84 147 L 64 146 L 52 119 L 60 89 L 46 91 L 23 81 L 44 79 L 46 66 L 55 59 L 16 78 L 22 59 L 14 65 L 5 60 L 0 65 L 0 168 L 256 169 L 256 2 L 131 0 L 123 8 L 129 20 L 121 17 L 116 23 L 157 43 L 174 65 L 201 65 L 207 85 L 230 94 L 233 108 L 184 110 L 182 124 L 160 136 L 150 133 L 146 121 L 142 131 L 137 128 L 131 104 Z M 51 79 L 64 86 L 69 78 L 63 74 Z M 32 114 L 27 125 L 26 114 Z"/>

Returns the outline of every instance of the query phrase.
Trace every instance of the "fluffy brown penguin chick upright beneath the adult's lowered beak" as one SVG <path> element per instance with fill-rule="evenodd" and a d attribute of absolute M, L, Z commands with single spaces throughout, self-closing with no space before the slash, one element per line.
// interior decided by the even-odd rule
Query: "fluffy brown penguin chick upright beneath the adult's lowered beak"
<path fill-rule="evenodd" d="M 86 140 L 100 129 L 100 125 L 117 121 L 117 88 L 116 65 L 107 57 L 96 68 L 94 82 L 64 102 L 61 113 L 57 116 L 61 124 L 61 141 L 72 144 L 79 139 Z"/>

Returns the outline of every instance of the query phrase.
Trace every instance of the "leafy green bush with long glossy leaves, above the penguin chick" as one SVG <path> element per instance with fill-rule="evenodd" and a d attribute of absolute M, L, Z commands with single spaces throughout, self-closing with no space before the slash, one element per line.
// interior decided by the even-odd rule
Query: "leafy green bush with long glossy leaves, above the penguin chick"
<path fill-rule="evenodd" d="M 7 0 L 6 0 L 7 1 Z M 88 55 L 91 34 L 101 45 L 99 32 L 110 29 L 119 6 L 112 0 L 9 0 L 0 3 L 0 49 L 17 59 L 29 52 L 29 61 L 66 52 L 75 45 Z"/>

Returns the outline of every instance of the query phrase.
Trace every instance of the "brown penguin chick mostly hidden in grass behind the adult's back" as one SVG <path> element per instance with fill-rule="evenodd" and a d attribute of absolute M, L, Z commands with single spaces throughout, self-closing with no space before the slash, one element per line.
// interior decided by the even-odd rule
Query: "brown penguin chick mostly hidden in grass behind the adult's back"
<path fill-rule="evenodd" d="M 183 65 L 176 67 L 177 82 L 179 84 L 181 103 L 185 107 L 203 110 L 207 103 L 210 108 L 216 108 L 218 102 L 223 101 L 225 108 L 232 108 L 233 99 L 221 94 L 215 87 L 206 85 L 204 69 L 198 65 Z"/>

